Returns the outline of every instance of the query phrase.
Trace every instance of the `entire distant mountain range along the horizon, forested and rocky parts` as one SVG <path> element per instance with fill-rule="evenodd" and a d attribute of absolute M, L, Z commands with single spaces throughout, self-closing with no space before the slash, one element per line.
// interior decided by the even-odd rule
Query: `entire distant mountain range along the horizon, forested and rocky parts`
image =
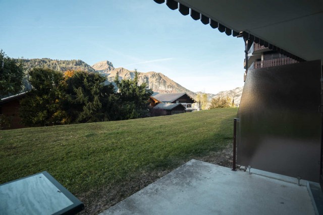
<path fill-rule="evenodd" d="M 53 60 L 49 58 L 41 59 L 25 59 L 25 64 L 27 70 L 33 67 L 48 67 L 55 70 L 66 71 L 69 69 L 76 70 L 86 70 L 90 73 L 99 73 L 106 77 L 107 81 L 113 83 L 116 74 L 119 74 L 120 79 L 133 79 L 134 70 L 128 70 L 123 67 L 115 68 L 113 63 L 107 60 L 97 62 L 90 66 L 82 60 Z M 155 73 L 154 71 L 149 71 L 148 73 L 138 72 L 139 84 L 146 82 L 149 88 L 153 92 L 157 93 L 187 93 L 193 98 L 196 97 L 199 92 L 192 92 L 178 83 L 174 82 L 172 79 L 168 78 L 164 74 Z M 243 88 L 236 88 L 230 91 L 223 91 L 218 94 L 207 94 L 208 98 L 211 99 L 217 96 L 229 96 L 233 97 L 235 103 L 240 103 L 241 93 Z"/>

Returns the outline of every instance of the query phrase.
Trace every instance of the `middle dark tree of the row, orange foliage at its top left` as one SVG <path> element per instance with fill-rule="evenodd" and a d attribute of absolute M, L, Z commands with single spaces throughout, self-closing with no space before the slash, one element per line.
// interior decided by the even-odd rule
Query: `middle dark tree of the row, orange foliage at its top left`
<path fill-rule="evenodd" d="M 118 99 L 112 84 L 97 73 L 66 71 L 67 100 L 64 109 L 72 122 L 98 122 L 114 120 Z"/>

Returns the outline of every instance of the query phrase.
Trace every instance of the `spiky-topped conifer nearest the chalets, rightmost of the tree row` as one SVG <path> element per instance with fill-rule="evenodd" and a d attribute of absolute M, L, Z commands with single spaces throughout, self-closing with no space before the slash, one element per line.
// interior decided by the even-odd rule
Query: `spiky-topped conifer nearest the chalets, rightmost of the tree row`
<path fill-rule="evenodd" d="M 148 115 L 147 104 L 152 91 L 148 89 L 147 83 L 138 84 L 138 72 L 135 69 L 133 80 L 119 80 L 119 74 L 115 77 L 118 87 L 120 119 L 134 119 Z"/>

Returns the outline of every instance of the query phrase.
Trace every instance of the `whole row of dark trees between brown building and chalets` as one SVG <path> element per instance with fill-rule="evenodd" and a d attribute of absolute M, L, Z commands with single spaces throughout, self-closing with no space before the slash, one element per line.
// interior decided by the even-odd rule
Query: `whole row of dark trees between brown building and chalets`
<path fill-rule="evenodd" d="M 148 98 L 152 91 L 145 83 L 121 80 L 105 85 L 105 78 L 96 73 L 68 70 L 62 73 L 50 68 L 29 71 L 33 86 L 21 101 L 20 116 L 28 126 L 124 120 L 148 115 Z"/>

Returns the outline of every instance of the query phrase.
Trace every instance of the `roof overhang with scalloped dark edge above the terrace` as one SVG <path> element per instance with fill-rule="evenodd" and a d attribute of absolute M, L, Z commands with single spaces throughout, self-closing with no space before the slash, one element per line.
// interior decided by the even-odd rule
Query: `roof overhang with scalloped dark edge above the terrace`
<path fill-rule="evenodd" d="M 251 35 L 251 40 L 256 37 L 265 45 L 269 43 L 274 48 L 278 47 L 278 51 L 282 49 L 283 53 L 289 52 L 304 60 L 323 59 L 323 0 L 166 2 L 172 10 L 179 8 L 181 14 L 190 15 L 203 24 L 218 22 L 218 29 L 228 35 L 237 36 L 237 32 L 246 32 L 247 37 Z M 187 9 L 190 9 L 189 14 Z"/>

